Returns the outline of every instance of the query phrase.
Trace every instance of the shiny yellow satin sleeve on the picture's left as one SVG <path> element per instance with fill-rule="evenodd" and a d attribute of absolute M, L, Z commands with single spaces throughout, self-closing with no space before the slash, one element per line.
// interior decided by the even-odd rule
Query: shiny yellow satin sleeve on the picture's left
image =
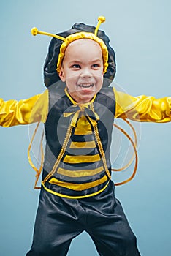
<path fill-rule="evenodd" d="M 12 127 L 19 124 L 31 124 L 37 121 L 45 123 L 48 113 L 48 91 L 20 101 L 0 99 L 0 125 Z"/>

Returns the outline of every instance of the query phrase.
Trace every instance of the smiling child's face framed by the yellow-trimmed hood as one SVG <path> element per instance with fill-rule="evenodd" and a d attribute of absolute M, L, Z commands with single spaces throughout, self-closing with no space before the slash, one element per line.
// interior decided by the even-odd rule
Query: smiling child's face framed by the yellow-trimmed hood
<path fill-rule="evenodd" d="M 61 72 L 76 102 L 89 102 L 103 83 L 102 49 L 92 39 L 77 39 L 66 48 Z"/>

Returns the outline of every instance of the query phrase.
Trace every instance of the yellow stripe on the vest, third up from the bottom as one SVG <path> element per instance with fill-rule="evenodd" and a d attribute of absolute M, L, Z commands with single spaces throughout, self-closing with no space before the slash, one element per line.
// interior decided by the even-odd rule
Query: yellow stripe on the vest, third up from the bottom
<path fill-rule="evenodd" d="M 69 156 L 66 155 L 64 158 L 64 162 L 69 164 L 77 164 L 80 162 L 97 162 L 100 160 L 99 154 L 95 154 L 94 156 Z"/>

